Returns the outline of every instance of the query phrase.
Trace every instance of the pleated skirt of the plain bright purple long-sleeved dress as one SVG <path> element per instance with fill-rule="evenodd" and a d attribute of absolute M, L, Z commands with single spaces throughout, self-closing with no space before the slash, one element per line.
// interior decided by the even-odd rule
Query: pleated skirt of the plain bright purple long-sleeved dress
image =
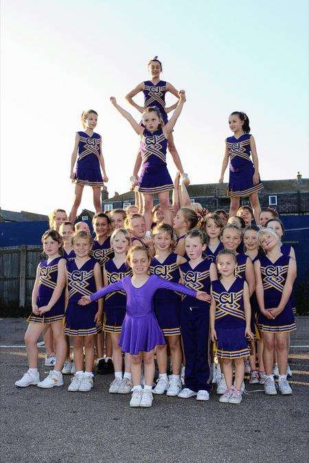
<path fill-rule="evenodd" d="M 139 352 L 150 352 L 158 344 L 165 344 L 165 341 L 153 312 L 141 317 L 126 314 L 119 339 L 122 352 L 135 355 Z"/>

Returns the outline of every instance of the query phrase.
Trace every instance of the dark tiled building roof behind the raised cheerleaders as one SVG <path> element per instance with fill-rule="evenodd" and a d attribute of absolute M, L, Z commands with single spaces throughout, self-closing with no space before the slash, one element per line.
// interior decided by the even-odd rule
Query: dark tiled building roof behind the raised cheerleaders
<path fill-rule="evenodd" d="M 264 180 L 262 181 L 264 189 L 261 194 L 276 194 L 288 192 L 309 192 L 309 179 L 301 179 L 298 183 L 297 179 L 286 180 Z M 189 185 L 187 192 L 190 198 L 217 196 L 227 197 L 227 183 L 201 183 L 198 185 Z M 134 201 L 135 194 L 133 191 L 126 192 L 106 199 L 104 202 L 113 201 Z"/>

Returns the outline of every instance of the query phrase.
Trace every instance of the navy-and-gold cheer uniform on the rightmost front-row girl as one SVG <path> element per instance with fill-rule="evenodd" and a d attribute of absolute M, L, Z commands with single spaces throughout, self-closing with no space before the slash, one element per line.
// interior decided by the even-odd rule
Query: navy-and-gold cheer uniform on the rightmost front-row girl
<path fill-rule="evenodd" d="M 261 275 L 264 288 L 264 307 L 275 308 L 279 306 L 286 277 L 288 275 L 289 256 L 280 256 L 275 262 L 271 262 L 267 256 L 259 258 Z M 262 331 L 288 332 L 296 329 L 293 307 L 290 299 L 275 319 L 268 319 L 262 313 L 259 316 L 259 324 Z"/>

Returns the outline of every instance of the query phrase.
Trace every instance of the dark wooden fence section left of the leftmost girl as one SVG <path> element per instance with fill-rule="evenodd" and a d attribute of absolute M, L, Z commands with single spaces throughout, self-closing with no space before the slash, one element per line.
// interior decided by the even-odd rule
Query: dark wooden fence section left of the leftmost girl
<path fill-rule="evenodd" d="M 0 248 L 0 305 L 25 307 L 31 302 L 41 245 Z"/>

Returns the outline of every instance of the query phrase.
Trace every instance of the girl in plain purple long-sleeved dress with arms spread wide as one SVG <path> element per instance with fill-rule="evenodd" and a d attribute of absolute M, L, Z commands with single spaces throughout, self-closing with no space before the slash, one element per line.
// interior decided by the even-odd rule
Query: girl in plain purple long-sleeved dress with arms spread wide
<path fill-rule="evenodd" d="M 155 376 L 155 347 L 164 344 L 163 333 L 152 308 L 152 301 L 158 289 L 179 291 L 192 297 L 205 299 L 205 293 L 185 288 L 182 284 L 168 282 L 157 275 L 148 275 L 150 255 L 144 246 L 131 247 L 128 263 L 133 276 L 126 276 L 118 282 L 109 284 L 91 296 L 84 296 L 81 305 L 98 300 L 112 291 L 126 293 L 126 317 L 122 324 L 119 346 L 122 352 L 131 355 L 133 394 L 130 407 L 151 407 L 152 383 Z M 141 388 L 141 362 L 144 361 L 145 386 Z"/>

